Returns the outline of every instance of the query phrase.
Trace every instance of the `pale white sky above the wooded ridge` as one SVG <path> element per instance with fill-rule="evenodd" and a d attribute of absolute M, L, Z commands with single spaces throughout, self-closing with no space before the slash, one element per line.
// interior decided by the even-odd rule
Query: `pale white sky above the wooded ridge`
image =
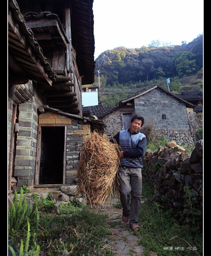
<path fill-rule="evenodd" d="M 95 59 L 119 46 L 187 44 L 203 33 L 203 0 L 94 0 Z"/>

